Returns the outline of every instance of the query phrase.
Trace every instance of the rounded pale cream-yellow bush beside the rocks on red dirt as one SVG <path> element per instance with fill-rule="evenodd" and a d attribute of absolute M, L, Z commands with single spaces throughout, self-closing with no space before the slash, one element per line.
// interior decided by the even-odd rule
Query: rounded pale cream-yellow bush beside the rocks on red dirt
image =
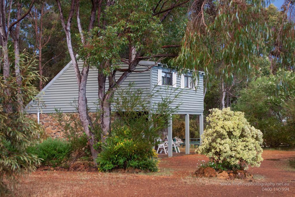
<path fill-rule="evenodd" d="M 212 109 L 206 120 L 209 123 L 201 138 L 199 153 L 228 169 L 236 166 L 260 166 L 262 161 L 262 133 L 244 118 L 244 113 L 230 108 Z"/>

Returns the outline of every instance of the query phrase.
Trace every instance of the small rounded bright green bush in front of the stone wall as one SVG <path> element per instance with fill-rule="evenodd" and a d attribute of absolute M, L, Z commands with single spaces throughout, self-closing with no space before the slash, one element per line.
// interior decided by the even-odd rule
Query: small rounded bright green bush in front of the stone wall
<path fill-rule="evenodd" d="M 61 166 L 71 155 L 71 144 L 63 139 L 47 138 L 42 143 L 29 147 L 27 152 L 37 155 L 42 159 L 44 166 Z"/>

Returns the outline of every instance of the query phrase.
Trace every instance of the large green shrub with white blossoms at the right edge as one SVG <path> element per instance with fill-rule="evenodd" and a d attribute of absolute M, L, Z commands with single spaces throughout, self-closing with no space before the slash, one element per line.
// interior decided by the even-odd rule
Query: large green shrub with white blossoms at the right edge
<path fill-rule="evenodd" d="M 278 71 L 276 76 L 260 77 L 241 91 L 240 98 L 233 105 L 234 110 L 244 112 L 250 124 L 262 131 L 264 146 L 276 147 L 295 143 L 292 124 L 294 101 L 289 100 L 295 96 L 294 79 L 290 71 Z M 285 83 L 279 84 L 280 80 Z M 289 84 L 287 91 L 283 84 Z"/>

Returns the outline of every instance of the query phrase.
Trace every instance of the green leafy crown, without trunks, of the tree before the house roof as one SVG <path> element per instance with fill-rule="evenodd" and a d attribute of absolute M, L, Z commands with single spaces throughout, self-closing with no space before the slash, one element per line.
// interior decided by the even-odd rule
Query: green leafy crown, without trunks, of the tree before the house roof
<path fill-rule="evenodd" d="M 151 0 L 115 1 L 106 10 L 108 25 L 104 28 L 94 27 L 89 33 L 84 32 L 88 45 L 80 44 L 80 58 L 108 76 L 110 69 L 117 68 L 117 64 L 122 63 L 121 59 L 126 58 L 123 56 L 129 46 L 147 56 L 151 55 L 151 51 L 157 52 L 161 49 L 163 26 L 159 18 L 153 16 L 153 6 L 154 1 Z M 110 64 L 107 67 L 100 66 L 105 61 Z"/>

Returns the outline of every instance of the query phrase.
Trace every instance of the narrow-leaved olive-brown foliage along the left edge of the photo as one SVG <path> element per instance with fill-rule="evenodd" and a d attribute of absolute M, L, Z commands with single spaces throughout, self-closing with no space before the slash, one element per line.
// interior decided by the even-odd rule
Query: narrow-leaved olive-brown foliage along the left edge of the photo
<path fill-rule="evenodd" d="M 36 65 L 34 59 L 27 54 L 20 55 L 23 77 L 21 87 L 18 87 L 14 75 L 4 79 L 0 74 L 0 194 L 11 189 L 10 186 L 14 185 L 19 175 L 34 171 L 35 165 L 40 163 L 40 159 L 26 149 L 39 141 L 37 136 L 42 134 L 43 129 L 35 120 L 17 110 L 23 107 L 17 102 L 20 91 L 23 92 L 24 102 L 32 100 L 38 93 L 32 86 L 34 80 L 41 78 L 37 72 L 32 71 Z M 13 108 L 10 113 L 5 110 L 8 105 Z"/>

